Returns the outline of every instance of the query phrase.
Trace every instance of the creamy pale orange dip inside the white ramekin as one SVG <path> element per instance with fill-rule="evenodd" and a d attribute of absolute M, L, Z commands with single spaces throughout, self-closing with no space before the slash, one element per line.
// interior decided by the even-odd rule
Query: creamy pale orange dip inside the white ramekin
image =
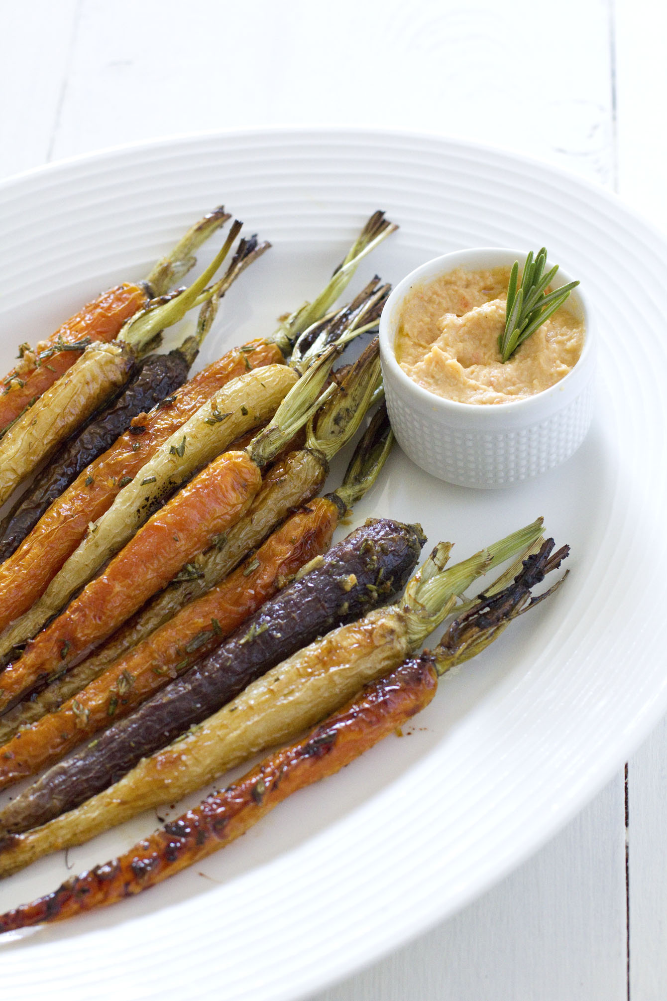
<path fill-rule="evenodd" d="M 396 359 L 419 385 L 461 403 L 507 403 L 558 382 L 576 364 L 584 324 L 567 304 L 545 320 L 504 364 L 510 268 L 456 268 L 417 285 L 403 300 Z"/>

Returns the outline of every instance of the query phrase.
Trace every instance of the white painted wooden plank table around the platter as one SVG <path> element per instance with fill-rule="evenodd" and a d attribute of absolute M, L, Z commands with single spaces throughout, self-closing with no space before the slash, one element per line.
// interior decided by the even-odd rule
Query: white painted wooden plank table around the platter
<path fill-rule="evenodd" d="M 667 13 L 652 0 L 0 0 L 0 176 L 181 132 L 379 125 L 561 164 L 667 229 Z M 666 791 L 663 724 L 502 884 L 312 1001 L 664 1001 Z"/>

